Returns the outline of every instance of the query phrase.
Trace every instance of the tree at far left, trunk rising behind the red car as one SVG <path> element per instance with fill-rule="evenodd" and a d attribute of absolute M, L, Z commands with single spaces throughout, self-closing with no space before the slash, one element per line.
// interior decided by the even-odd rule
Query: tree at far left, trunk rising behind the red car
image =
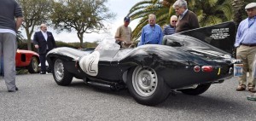
<path fill-rule="evenodd" d="M 31 37 L 36 26 L 49 22 L 51 0 L 17 0 L 22 8 L 24 22 L 21 27 L 25 29 L 27 49 L 31 50 Z"/>

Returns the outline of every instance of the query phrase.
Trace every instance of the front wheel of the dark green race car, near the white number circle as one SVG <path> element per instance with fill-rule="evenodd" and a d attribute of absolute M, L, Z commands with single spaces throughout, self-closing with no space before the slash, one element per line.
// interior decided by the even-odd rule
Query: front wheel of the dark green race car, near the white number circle
<path fill-rule="evenodd" d="M 55 78 L 56 84 L 61 86 L 67 86 L 73 80 L 71 73 L 67 72 L 67 69 L 63 65 L 62 60 L 56 59 L 53 66 L 53 77 Z"/>

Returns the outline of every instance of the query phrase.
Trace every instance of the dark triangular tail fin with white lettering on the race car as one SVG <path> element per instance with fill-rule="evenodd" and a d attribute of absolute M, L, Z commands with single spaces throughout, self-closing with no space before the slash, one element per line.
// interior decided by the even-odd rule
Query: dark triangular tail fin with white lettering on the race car
<path fill-rule="evenodd" d="M 236 24 L 232 21 L 180 32 L 179 34 L 195 37 L 230 54 L 234 53 Z"/>

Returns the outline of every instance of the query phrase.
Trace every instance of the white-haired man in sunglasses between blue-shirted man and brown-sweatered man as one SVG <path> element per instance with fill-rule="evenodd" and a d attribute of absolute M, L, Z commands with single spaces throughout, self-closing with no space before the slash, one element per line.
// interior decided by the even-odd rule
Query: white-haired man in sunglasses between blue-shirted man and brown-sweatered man
<path fill-rule="evenodd" d="M 164 28 L 164 31 L 163 31 L 164 36 L 171 35 L 175 32 L 176 23 L 177 23 L 177 16 L 172 15 L 172 17 L 170 18 L 170 24 L 165 26 Z"/>

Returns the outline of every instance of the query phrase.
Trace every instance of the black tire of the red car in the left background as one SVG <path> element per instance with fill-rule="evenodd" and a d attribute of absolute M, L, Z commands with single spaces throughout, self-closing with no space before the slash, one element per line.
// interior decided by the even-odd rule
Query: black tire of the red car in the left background
<path fill-rule="evenodd" d="M 39 65 L 39 60 L 37 57 L 32 56 L 31 60 L 30 60 L 30 64 L 29 66 L 27 66 L 27 70 L 29 73 L 38 73 L 38 65 Z"/>

